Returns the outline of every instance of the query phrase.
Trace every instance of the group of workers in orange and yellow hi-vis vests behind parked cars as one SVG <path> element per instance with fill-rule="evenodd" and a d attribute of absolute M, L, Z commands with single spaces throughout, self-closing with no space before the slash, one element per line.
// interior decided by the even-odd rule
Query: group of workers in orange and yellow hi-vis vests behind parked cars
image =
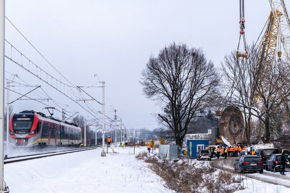
<path fill-rule="evenodd" d="M 244 146 L 242 149 L 240 144 L 237 146 L 222 146 L 219 148 L 219 146 L 216 148 L 216 157 L 219 159 L 220 156 L 224 157 L 227 159 L 228 157 L 238 157 L 241 153 L 242 150 L 246 150 L 247 146 Z M 214 146 L 210 147 L 210 152 L 211 152 L 211 157 L 213 157 L 214 154 Z M 251 152 L 252 153 L 252 152 Z M 255 151 L 254 151 L 255 154 Z"/>

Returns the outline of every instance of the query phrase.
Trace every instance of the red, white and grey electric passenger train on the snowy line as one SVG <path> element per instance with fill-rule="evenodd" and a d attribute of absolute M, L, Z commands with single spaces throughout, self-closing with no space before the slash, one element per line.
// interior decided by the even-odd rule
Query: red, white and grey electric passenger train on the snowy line
<path fill-rule="evenodd" d="M 35 111 L 14 114 L 9 122 L 9 144 L 14 147 L 79 145 L 81 133 L 78 125 Z"/>

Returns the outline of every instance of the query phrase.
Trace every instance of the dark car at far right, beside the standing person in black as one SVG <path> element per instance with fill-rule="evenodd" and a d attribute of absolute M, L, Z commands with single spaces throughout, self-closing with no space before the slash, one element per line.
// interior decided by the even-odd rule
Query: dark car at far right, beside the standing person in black
<path fill-rule="evenodd" d="M 285 154 L 284 156 L 285 156 L 286 160 L 289 160 L 290 156 L 288 154 Z M 277 172 L 278 170 L 282 170 L 281 157 L 282 157 L 281 153 L 272 154 L 266 163 L 265 169 L 267 171 L 272 170 L 273 172 Z M 287 163 L 285 164 L 285 170 L 286 169 L 290 169 L 290 166 Z"/>

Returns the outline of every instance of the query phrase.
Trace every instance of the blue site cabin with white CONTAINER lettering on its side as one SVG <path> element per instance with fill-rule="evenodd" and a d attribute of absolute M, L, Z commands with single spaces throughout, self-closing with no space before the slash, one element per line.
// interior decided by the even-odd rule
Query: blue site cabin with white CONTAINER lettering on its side
<path fill-rule="evenodd" d="M 205 149 L 208 145 L 208 139 L 187 139 L 187 156 L 192 156 L 196 159 L 198 150 Z"/>

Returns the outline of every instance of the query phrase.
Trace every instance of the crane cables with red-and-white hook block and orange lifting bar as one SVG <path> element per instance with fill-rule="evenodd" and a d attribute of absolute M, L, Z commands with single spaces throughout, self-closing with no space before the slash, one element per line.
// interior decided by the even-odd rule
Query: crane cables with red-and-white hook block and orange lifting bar
<path fill-rule="evenodd" d="M 245 9 L 244 9 L 244 0 L 240 0 L 240 38 L 239 38 L 239 44 L 237 46 L 237 51 L 236 51 L 236 56 L 237 58 L 243 57 L 245 59 L 248 58 L 248 52 L 247 52 L 247 44 L 246 44 L 246 38 L 245 38 Z M 240 53 L 239 52 L 239 47 L 240 47 L 240 41 L 241 41 L 241 36 L 243 37 L 244 41 L 244 48 L 245 48 L 245 53 Z"/>

